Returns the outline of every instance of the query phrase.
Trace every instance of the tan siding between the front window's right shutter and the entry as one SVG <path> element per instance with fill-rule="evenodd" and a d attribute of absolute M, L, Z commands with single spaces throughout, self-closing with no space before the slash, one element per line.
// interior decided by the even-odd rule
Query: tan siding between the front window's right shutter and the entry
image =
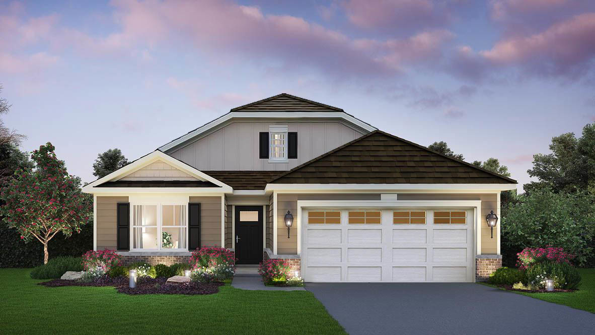
<path fill-rule="evenodd" d="M 221 197 L 191 196 L 190 202 L 201 203 L 201 245 L 221 246 Z"/>

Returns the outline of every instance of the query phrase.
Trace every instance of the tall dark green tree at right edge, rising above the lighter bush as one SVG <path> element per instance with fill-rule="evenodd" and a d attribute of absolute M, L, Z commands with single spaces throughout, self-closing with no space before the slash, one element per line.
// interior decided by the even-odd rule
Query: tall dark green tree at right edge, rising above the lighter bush
<path fill-rule="evenodd" d="M 554 192 L 595 194 L 595 123 L 583 127 L 583 136 L 566 133 L 552 138 L 551 154 L 533 155 L 533 168 L 527 170 L 538 181 L 525 184 L 526 192 L 552 189 Z"/>

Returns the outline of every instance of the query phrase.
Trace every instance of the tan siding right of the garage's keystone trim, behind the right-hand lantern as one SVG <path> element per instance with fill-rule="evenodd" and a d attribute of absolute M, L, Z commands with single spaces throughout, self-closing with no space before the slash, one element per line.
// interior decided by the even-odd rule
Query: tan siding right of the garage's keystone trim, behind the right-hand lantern
<path fill-rule="evenodd" d="M 490 211 L 497 212 L 498 198 L 496 194 L 409 194 L 402 193 L 399 200 L 481 200 L 481 218 L 485 218 Z M 500 222 L 498 222 L 500 224 Z M 492 255 L 497 253 L 497 241 L 500 238 L 494 229 L 494 238 L 490 238 L 490 227 L 486 221 L 480 222 L 481 227 L 481 254 Z"/>

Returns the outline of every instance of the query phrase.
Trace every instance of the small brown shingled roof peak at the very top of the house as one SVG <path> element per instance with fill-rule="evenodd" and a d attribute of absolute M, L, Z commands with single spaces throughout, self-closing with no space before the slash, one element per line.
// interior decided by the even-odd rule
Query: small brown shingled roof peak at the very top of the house
<path fill-rule="evenodd" d="M 252 102 L 248 105 L 232 108 L 231 112 L 342 112 L 343 109 L 321 104 L 320 102 L 281 93 Z"/>

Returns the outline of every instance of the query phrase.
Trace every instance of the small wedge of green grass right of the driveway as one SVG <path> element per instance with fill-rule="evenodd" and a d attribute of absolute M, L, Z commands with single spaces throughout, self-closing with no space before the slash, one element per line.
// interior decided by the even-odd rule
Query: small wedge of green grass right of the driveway
<path fill-rule="evenodd" d="M 519 295 L 530 296 L 548 302 L 566 305 L 576 309 L 595 314 L 595 268 L 578 269 L 583 279 L 578 291 L 562 293 L 529 293 L 520 291 L 511 291 Z M 491 285 L 490 285 L 491 286 Z"/>

